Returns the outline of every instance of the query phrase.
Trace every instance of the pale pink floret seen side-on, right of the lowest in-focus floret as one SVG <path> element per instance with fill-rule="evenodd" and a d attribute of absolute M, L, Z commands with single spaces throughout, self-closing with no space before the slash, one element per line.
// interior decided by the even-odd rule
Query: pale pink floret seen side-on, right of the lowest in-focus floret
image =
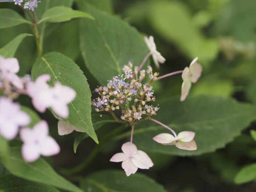
<path fill-rule="evenodd" d="M 183 150 L 196 150 L 196 142 L 193 140 L 195 137 L 195 132 L 192 131 L 182 131 L 177 137 L 174 137 L 168 133 L 161 133 L 155 136 L 153 139 L 163 145 L 175 145 L 176 147 Z"/>

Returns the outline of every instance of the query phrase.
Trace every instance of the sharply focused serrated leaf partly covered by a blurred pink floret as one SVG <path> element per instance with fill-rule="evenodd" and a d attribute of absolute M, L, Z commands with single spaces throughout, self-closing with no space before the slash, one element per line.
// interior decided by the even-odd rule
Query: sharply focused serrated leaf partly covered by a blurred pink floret
<path fill-rule="evenodd" d="M 70 58 L 51 52 L 38 58 L 31 72 L 33 79 L 45 73 L 52 77 L 50 85 L 53 86 L 54 82 L 58 81 L 76 91 L 76 98 L 69 104 L 69 117 L 64 120 L 84 130 L 98 143 L 91 120 L 91 91 L 83 72 Z"/>

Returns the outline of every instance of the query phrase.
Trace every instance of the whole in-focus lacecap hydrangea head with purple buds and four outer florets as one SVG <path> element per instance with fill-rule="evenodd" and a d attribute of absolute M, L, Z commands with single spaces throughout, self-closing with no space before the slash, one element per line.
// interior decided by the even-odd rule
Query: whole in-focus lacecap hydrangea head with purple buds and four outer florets
<path fill-rule="evenodd" d="M 92 105 L 95 106 L 97 112 L 103 111 L 110 113 L 118 122 L 126 123 L 131 126 L 130 142 L 122 145 L 122 153 L 117 153 L 110 159 L 111 162 L 122 162 L 122 168 L 125 170 L 127 176 L 132 173 L 134 174 L 138 168 L 149 169 L 153 166 L 150 157 L 145 152 L 137 150 L 136 145 L 133 143 L 134 127 L 142 121 L 151 120 L 172 132 L 173 135 L 162 133 L 155 136 L 153 139 L 158 143 L 175 145 L 183 150 L 197 149 L 196 143 L 193 140 L 195 132 L 182 131 L 176 135 L 172 128 L 153 119 L 160 107 L 152 104 L 152 102 L 156 101 L 156 98 L 151 83 L 174 74 L 182 73 L 183 85 L 181 101 L 184 101 L 191 87 L 191 82 L 195 83 L 202 72 L 201 65 L 196 62 L 198 58 L 195 58 L 191 62 L 189 68 L 186 67 L 184 70 L 158 77 L 159 73 L 153 72 L 151 66 L 148 66 L 147 69 L 142 68 L 151 55 L 153 56 L 157 68 L 160 67 L 159 62 L 163 63 L 165 59 L 156 50 L 152 36 L 149 38 L 145 37 L 145 41 L 150 53 L 147 54 L 142 64 L 140 66 L 134 66 L 133 63 L 129 62 L 127 65 L 124 65 L 124 74 L 113 77 L 108 81 L 106 86 L 97 87 L 95 92 L 99 94 L 99 97 L 92 101 Z M 119 117 L 115 115 L 115 111 L 117 110 L 121 111 L 121 116 Z"/>

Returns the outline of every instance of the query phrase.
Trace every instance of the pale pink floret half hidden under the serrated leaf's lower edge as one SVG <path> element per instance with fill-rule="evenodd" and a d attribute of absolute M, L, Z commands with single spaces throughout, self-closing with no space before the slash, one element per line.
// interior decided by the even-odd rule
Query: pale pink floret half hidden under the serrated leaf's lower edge
<path fill-rule="evenodd" d="M 54 114 L 53 114 L 54 115 Z M 57 118 L 58 121 L 58 134 L 59 135 L 68 135 L 70 133 L 72 133 L 74 130 L 77 132 L 85 132 L 83 130 L 81 130 L 80 128 L 73 126 L 72 124 L 65 122 L 64 120 L 62 120 L 61 118 L 57 117 L 56 115 L 54 115 L 55 118 Z"/>

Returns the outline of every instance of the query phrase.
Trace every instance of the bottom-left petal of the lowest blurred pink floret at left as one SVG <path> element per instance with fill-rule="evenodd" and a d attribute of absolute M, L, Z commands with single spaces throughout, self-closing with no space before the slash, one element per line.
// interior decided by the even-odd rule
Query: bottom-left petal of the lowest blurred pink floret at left
<path fill-rule="evenodd" d="M 23 144 L 21 154 L 26 162 L 34 162 L 40 157 L 38 147 L 33 144 Z"/>

